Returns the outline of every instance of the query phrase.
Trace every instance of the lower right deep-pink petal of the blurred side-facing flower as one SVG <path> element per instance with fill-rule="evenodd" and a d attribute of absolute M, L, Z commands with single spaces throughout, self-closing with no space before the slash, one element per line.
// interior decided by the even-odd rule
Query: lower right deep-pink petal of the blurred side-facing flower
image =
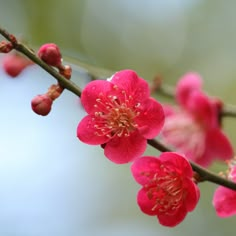
<path fill-rule="evenodd" d="M 229 139 L 220 129 L 212 129 L 206 136 L 206 148 L 214 158 L 227 160 L 233 157 L 233 148 Z"/>

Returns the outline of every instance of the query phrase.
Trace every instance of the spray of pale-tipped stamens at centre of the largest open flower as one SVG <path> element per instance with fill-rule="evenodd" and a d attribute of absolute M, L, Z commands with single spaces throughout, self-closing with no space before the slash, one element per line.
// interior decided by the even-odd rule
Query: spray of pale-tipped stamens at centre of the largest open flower
<path fill-rule="evenodd" d="M 95 135 L 127 137 L 137 129 L 135 117 L 140 114 L 140 104 L 134 104 L 132 96 L 127 96 L 125 91 L 122 91 L 122 95 L 119 99 L 114 95 L 99 94 L 94 105 L 97 108 L 93 118 Z"/>

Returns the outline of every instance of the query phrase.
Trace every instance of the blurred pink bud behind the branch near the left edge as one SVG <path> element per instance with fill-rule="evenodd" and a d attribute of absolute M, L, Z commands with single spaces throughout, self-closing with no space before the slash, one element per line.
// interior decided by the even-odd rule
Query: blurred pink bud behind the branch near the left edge
<path fill-rule="evenodd" d="M 33 62 L 19 54 L 7 54 L 2 60 L 4 71 L 11 77 L 18 76 L 27 66 Z"/>

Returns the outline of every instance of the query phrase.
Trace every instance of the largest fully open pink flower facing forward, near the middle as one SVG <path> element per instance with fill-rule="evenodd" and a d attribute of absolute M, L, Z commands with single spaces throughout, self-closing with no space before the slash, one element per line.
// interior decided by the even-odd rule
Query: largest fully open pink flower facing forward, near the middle
<path fill-rule="evenodd" d="M 90 82 L 81 103 L 88 115 L 78 125 L 78 138 L 101 144 L 105 156 L 115 163 L 140 157 L 147 139 L 154 138 L 164 123 L 162 106 L 150 98 L 148 83 L 131 70 Z"/>

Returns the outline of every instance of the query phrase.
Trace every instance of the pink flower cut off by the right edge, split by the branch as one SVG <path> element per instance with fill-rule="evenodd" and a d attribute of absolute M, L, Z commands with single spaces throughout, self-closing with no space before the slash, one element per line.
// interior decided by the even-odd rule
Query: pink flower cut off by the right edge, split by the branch
<path fill-rule="evenodd" d="M 236 182 L 236 166 L 233 166 L 228 179 Z M 218 187 L 214 193 L 213 206 L 219 217 L 230 217 L 236 214 L 236 191 Z"/>

